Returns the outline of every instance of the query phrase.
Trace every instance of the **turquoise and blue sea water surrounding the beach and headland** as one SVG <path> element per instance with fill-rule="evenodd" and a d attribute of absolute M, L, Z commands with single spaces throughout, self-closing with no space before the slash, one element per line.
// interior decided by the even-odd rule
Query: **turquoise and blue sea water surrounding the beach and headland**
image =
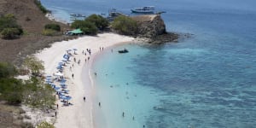
<path fill-rule="evenodd" d="M 125 44 L 96 59 L 96 128 L 253 128 L 256 125 L 256 1 L 42 0 L 69 14 L 127 15 L 154 5 L 166 11 L 178 43 Z M 119 49 L 129 49 L 120 55 Z M 98 108 L 101 102 L 101 108 Z M 124 116 L 123 116 L 124 113 Z"/>

